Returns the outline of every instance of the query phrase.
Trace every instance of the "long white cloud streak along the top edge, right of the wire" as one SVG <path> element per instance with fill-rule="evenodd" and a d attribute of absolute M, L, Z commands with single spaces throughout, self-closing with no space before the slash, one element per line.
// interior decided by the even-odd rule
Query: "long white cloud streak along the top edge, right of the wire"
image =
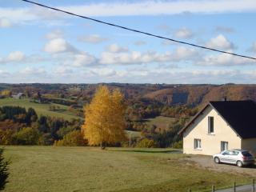
<path fill-rule="evenodd" d="M 254 0 L 143 1 L 92 3 L 85 6 L 62 6 L 61 9 L 87 16 L 162 15 L 181 13 L 223 13 L 256 10 Z"/>

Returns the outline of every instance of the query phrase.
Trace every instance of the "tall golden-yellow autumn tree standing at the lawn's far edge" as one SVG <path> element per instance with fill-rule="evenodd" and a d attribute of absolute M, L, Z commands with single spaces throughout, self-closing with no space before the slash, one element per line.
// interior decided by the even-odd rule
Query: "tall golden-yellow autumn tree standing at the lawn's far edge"
<path fill-rule="evenodd" d="M 90 146 L 114 144 L 125 139 L 125 105 L 119 90 L 99 86 L 94 98 L 85 107 L 85 124 L 82 130 Z"/>

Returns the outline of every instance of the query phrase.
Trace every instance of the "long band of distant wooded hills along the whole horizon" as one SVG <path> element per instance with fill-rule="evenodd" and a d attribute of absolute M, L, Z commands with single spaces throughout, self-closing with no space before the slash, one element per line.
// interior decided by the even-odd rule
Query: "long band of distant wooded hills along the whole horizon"
<path fill-rule="evenodd" d="M 164 105 L 198 106 L 208 101 L 252 99 L 256 101 L 256 85 L 171 85 L 104 83 L 110 90 L 120 89 L 130 102 L 158 103 Z M 90 101 L 99 84 L 0 84 L 0 90 L 10 89 L 13 93 L 30 90 L 41 94 L 62 94 L 63 98 L 82 98 Z"/>

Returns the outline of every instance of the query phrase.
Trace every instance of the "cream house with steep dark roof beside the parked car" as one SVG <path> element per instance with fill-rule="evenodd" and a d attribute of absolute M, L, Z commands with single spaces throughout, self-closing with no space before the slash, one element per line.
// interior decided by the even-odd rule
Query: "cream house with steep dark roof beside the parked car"
<path fill-rule="evenodd" d="M 254 101 L 209 102 L 178 134 L 183 153 L 212 155 L 228 149 L 256 154 Z"/>

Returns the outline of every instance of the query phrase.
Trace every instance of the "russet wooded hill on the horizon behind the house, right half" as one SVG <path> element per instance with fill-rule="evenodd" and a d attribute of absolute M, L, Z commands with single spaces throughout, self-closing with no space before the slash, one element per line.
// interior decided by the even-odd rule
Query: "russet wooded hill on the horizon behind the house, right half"
<path fill-rule="evenodd" d="M 176 86 L 163 90 L 156 90 L 143 97 L 157 100 L 168 105 L 182 104 L 198 106 L 208 101 L 228 100 L 256 101 L 256 85 L 203 85 L 203 86 Z"/>

